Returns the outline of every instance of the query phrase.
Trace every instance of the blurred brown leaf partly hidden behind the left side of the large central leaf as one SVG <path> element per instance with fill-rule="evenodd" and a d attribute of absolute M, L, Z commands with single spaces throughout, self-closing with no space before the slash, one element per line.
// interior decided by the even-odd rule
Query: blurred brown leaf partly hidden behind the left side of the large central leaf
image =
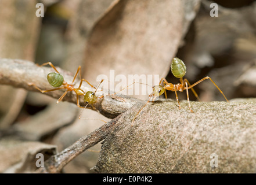
<path fill-rule="evenodd" d="M 67 57 L 64 68 L 75 71 L 84 60 L 84 50 L 88 33 L 96 20 L 106 11 L 114 0 L 76 0 L 74 16 L 68 21 L 66 41 Z M 68 5 L 70 1 L 66 1 Z M 71 3 L 74 3 L 73 1 Z M 68 5 L 69 6 L 69 5 Z M 84 69 L 82 69 L 83 71 Z"/>

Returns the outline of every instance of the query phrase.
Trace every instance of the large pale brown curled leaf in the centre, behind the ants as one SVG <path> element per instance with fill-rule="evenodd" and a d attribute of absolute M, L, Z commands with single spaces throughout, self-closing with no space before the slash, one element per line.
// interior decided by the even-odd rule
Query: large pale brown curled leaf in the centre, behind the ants
<path fill-rule="evenodd" d="M 84 77 L 95 82 L 98 75 L 109 76 L 110 69 L 126 77 L 164 77 L 182 31 L 182 1 L 116 1 L 89 36 Z"/>

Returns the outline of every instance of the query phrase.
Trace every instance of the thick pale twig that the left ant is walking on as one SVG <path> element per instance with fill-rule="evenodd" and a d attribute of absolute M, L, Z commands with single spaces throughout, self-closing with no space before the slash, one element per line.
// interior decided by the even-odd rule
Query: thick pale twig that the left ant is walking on
<path fill-rule="evenodd" d="M 58 68 L 58 71 L 64 76 L 64 80 L 66 82 L 72 82 L 74 77 L 73 74 L 60 68 Z M 28 83 L 34 83 L 42 90 L 49 90 L 53 88 L 46 80 L 46 76 L 49 72 L 53 72 L 53 69 L 51 67 L 39 67 L 30 61 L 0 58 L 0 84 L 8 84 L 13 87 L 21 87 L 29 91 L 39 92 L 33 86 L 28 85 Z M 76 82 L 78 82 L 78 80 Z M 92 88 L 86 83 L 83 83 L 81 88 L 84 91 L 92 90 Z M 62 96 L 63 92 L 64 90 L 57 90 L 47 92 L 45 94 L 58 99 Z M 98 110 L 99 113 L 110 119 L 113 119 L 119 114 L 125 112 L 133 105 L 135 105 L 135 103 L 138 103 L 140 101 L 139 99 L 128 97 L 125 95 L 110 96 L 109 94 L 107 94 L 107 92 L 104 91 L 99 91 L 98 94 L 103 95 L 104 97 L 98 98 L 98 101 L 93 104 L 93 106 L 96 108 L 96 110 Z M 68 93 L 66 97 L 64 97 L 63 101 L 68 101 L 76 104 L 75 93 Z M 80 97 L 80 103 L 81 106 L 85 106 L 82 96 Z M 88 108 L 90 107 L 91 105 L 88 106 Z"/>

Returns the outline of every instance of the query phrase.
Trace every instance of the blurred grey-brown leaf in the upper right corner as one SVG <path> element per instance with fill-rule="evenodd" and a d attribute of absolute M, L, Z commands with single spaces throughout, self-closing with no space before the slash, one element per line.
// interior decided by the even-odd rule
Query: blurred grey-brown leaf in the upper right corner
<path fill-rule="evenodd" d="M 236 53 L 243 53 L 244 56 L 248 52 L 255 49 L 255 7 L 256 3 L 251 6 L 242 8 L 229 9 L 218 5 L 218 17 L 211 17 L 210 1 L 202 1 L 202 10 L 195 19 L 196 36 L 193 51 L 186 61 L 191 61 L 200 68 L 214 65 L 212 56 L 225 56 L 230 54 L 230 50 Z M 253 36 L 251 36 L 253 35 Z M 250 39 L 249 42 L 246 39 Z M 250 47 L 250 50 L 248 49 Z M 246 53 L 247 52 L 247 53 Z M 251 54 L 255 57 L 255 54 Z M 232 64 L 234 61 L 232 61 Z"/>

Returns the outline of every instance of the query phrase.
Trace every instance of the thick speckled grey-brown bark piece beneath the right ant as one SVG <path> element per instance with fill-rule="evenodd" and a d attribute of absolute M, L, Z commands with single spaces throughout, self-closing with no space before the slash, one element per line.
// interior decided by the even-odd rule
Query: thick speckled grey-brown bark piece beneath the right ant
<path fill-rule="evenodd" d="M 99 173 L 255 173 L 256 99 L 143 103 L 122 114 L 104 140 Z M 218 168 L 210 162 L 218 155 Z M 215 156 L 211 158 L 211 155 Z M 213 162 L 214 164 L 214 162 Z M 216 164 L 216 163 L 215 163 Z"/>

